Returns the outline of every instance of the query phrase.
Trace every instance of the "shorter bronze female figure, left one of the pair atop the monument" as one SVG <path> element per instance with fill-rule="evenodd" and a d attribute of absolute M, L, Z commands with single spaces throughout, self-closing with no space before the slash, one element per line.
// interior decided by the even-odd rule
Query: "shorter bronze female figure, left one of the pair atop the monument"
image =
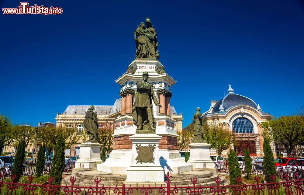
<path fill-rule="evenodd" d="M 147 36 L 146 36 L 145 23 L 141 22 L 140 25 L 134 32 L 134 40 L 136 42 L 136 58 L 146 58 L 147 57 Z M 137 38 L 136 38 L 137 37 Z"/>

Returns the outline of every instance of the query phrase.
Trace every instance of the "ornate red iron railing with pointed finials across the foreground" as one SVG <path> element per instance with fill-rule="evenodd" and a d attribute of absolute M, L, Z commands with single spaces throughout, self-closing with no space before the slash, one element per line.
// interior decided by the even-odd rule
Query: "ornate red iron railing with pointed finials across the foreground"
<path fill-rule="evenodd" d="M 192 185 L 191 186 L 171 186 L 169 172 L 166 176 L 164 176 L 166 182 L 161 186 L 150 186 L 150 184 L 146 186 L 132 186 L 122 184 L 122 186 L 104 186 L 101 183 L 101 179 L 96 177 L 94 179 L 95 186 L 79 186 L 76 182 L 75 177 L 70 178 L 71 186 L 54 186 L 51 185 L 54 177 L 48 178 L 48 185 L 37 185 L 32 183 L 34 176 L 28 176 L 29 183 L 14 183 L 16 176 L 12 175 L 12 182 L 3 182 L 0 181 L 0 194 L 6 195 L 34 195 L 34 194 L 43 194 L 43 195 L 51 195 L 51 194 L 59 194 L 64 193 L 65 195 L 204 195 L 208 193 L 212 193 L 212 195 L 220 195 L 226 193 L 232 193 L 234 195 L 246 195 L 246 194 L 254 194 L 254 195 L 302 195 L 304 179 L 299 179 L 296 174 L 295 180 L 290 180 L 289 176 L 286 174 L 283 178 L 282 182 L 275 182 L 275 177 L 272 176 L 272 183 L 262 183 L 260 180 L 260 176 L 255 176 L 255 184 L 241 185 L 242 178 L 237 177 L 236 180 L 238 185 L 233 186 L 224 186 L 219 185 L 221 179 L 216 177 L 214 181 L 216 182 L 215 186 L 201 186 L 196 185 L 198 179 L 193 177 L 191 178 Z"/>

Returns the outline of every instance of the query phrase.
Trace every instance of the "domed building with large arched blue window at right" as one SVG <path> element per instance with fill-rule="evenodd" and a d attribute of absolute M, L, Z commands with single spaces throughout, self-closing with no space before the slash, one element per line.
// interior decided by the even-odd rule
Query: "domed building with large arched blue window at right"
<path fill-rule="evenodd" d="M 264 112 L 260 105 L 252 99 L 235 94 L 231 85 L 227 95 L 219 101 L 210 101 L 208 111 L 202 113 L 202 119 L 209 123 L 222 123 L 226 130 L 236 135 L 237 145 L 233 146 L 238 155 L 244 154 L 248 149 L 250 156 L 263 156 L 263 137 L 261 136 L 261 123 L 272 118 L 271 114 Z M 275 155 L 274 144 L 271 148 Z M 222 156 L 227 155 L 227 150 Z M 215 149 L 210 150 L 211 155 L 216 155 Z"/>

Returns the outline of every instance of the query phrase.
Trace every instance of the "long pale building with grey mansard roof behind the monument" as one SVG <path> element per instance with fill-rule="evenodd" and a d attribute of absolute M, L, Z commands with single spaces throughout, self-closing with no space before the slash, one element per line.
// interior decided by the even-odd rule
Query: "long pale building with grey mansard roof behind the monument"
<path fill-rule="evenodd" d="M 99 127 L 104 127 L 104 125 L 109 124 L 113 125 L 113 128 L 116 127 L 115 120 L 121 115 L 121 102 L 122 99 L 116 99 L 115 103 L 112 106 L 95 106 L 94 112 L 97 114 Z M 67 128 L 75 128 L 77 134 L 82 136 L 83 130 L 83 121 L 85 120 L 85 113 L 88 111 L 90 105 L 70 105 L 67 106 L 65 111 L 61 114 L 57 112 L 56 116 L 56 125 L 64 126 Z M 171 118 L 175 120 L 175 129 L 178 131 L 182 130 L 182 120 L 183 117 L 181 114 L 177 114 L 174 106 L 170 106 Z M 78 144 L 82 143 L 80 139 Z M 65 155 L 79 155 L 78 144 L 73 145 L 71 149 L 65 151 Z"/>

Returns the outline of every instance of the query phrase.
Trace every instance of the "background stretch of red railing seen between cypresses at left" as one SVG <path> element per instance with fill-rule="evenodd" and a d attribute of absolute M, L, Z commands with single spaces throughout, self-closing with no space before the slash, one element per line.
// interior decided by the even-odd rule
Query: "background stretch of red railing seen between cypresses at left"
<path fill-rule="evenodd" d="M 43 175 L 49 175 L 50 174 L 50 169 L 51 169 L 51 162 L 49 163 L 45 163 L 44 167 L 43 167 Z M 31 175 L 35 175 L 36 174 L 36 166 L 37 163 L 36 162 L 29 162 L 29 163 L 24 163 L 23 167 L 22 167 L 22 175 L 23 176 L 31 176 Z M 65 168 L 64 168 L 64 172 L 71 172 L 72 169 L 75 167 L 75 162 L 72 161 L 67 161 L 65 162 Z M 12 169 L 13 169 L 13 165 L 12 163 L 10 163 L 10 165 L 4 165 L 4 166 L 0 166 L 0 174 L 1 174 L 1 178 L 7 178 L 11 176 L 12 173 Z M 0 179 L 1 179 L 0 178 Z"/>

